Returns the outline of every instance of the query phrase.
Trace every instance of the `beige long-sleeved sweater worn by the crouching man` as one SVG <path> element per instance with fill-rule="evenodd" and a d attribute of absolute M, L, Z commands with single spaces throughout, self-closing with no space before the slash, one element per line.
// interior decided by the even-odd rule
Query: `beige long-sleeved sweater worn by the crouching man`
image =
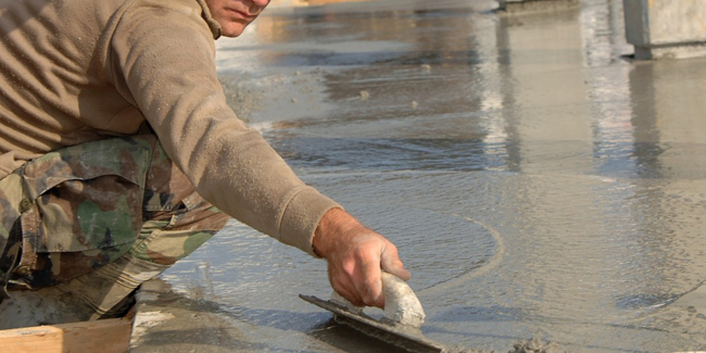
<path fill-rule="evenodd" d="M 237 118 L 203 0 L 0 0 L 0 178 L 65 146 L 149 122 L 199 193 L 310 254 L 338 206 Z"/>

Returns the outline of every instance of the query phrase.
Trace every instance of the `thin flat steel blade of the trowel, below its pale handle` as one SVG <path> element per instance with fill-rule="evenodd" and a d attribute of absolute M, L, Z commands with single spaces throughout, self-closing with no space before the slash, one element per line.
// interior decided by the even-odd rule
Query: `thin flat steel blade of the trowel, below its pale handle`
<path fill-rule="evenodd" d="M 421 330 L 387 319 L 376 320 L 363 313 L 353 313 L 336 302 L 322 300 L 312 295 L 299 294 L 299 298 L 323 307 L 331 313 L 337 322 L 345 324 L 367 336 L 396 345 L 408 352 L 444 352 L 445 348 L 421 335 Z"/>

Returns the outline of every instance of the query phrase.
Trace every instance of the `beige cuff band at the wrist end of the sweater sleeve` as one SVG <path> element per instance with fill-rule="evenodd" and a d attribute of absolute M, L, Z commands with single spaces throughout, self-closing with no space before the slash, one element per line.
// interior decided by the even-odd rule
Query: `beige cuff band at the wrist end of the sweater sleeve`
<path fill-rule="evenodd" d="M 312 245 L 314 231 L 324 214 L 335 207 L 343 209 L 314 188 L 299 192 L 290 200 L 282 214 L 279 241 L 318 257 Z"/>

